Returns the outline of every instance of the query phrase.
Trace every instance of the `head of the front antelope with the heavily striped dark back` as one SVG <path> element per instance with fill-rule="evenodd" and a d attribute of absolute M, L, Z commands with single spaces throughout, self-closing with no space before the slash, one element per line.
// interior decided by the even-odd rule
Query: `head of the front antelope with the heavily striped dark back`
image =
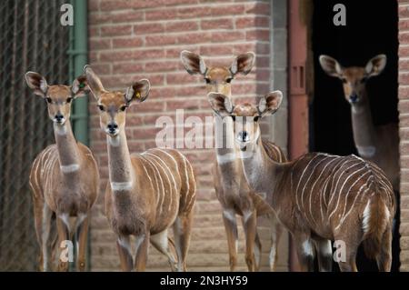
<path fill-rule="evenodd" d="M 258 105 L 233 105 L 226 95 L 219 93 L 210 93 L 207 97 L 215 114 L 233 118 L 234 139 L 240 150 L 253 151 L 261 137 L 260 119 L 265 115 L 273 115 L 278 110 L 283 93 L 274 91 L 264 95 Z"/>

